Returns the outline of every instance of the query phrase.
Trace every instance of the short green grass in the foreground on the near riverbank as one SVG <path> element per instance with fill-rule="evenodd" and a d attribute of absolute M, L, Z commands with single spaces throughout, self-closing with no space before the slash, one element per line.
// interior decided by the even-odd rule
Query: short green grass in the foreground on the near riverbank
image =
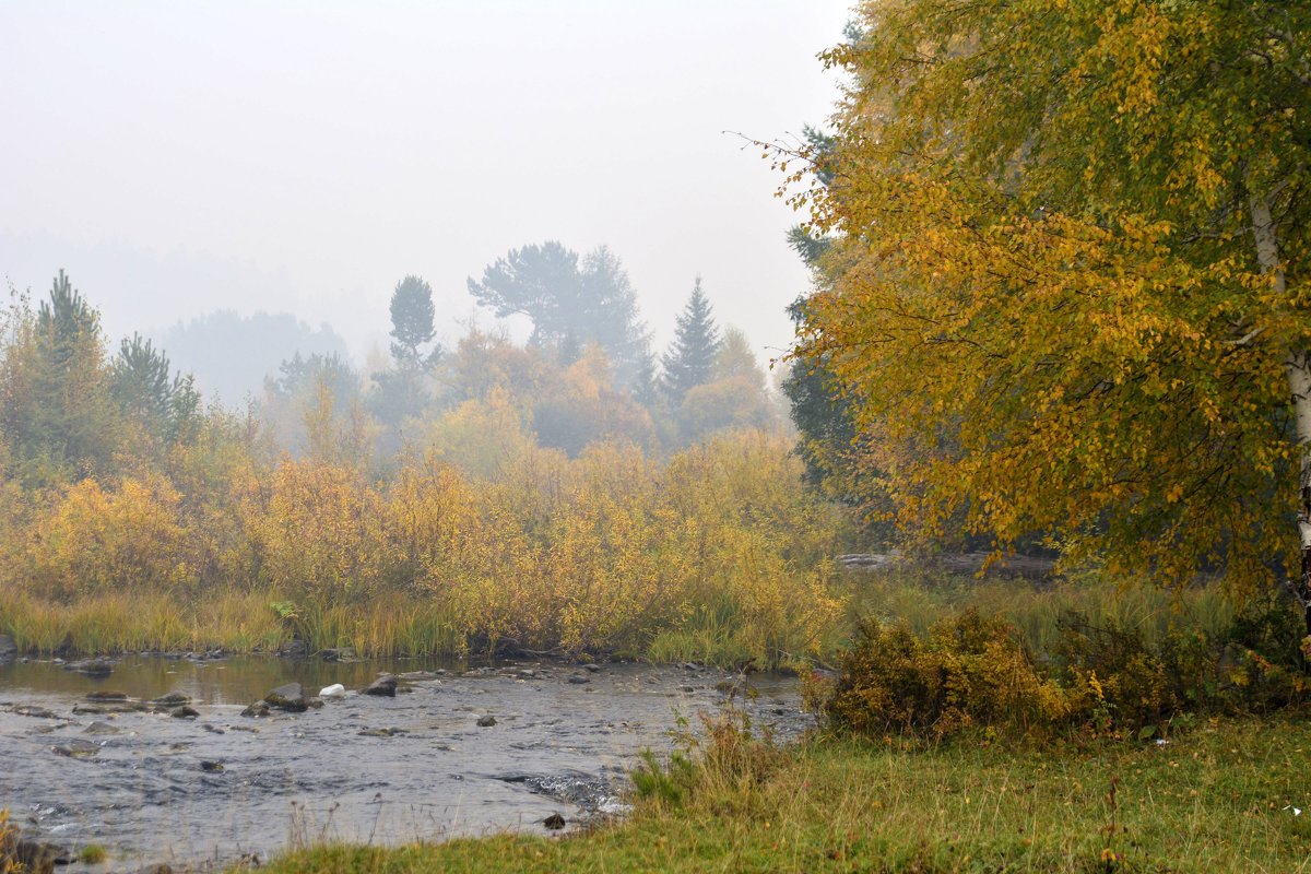
<path fill-rule="evenodd" d="M 1235 721 L 1165 746 L 912 748 L 819 740 L 679 803 L 560 840 L 321 846 L 271 871 L 1304 871 L 1311 725 Z M 1113 789 L 1114 788 L 1114 789 Z"/>

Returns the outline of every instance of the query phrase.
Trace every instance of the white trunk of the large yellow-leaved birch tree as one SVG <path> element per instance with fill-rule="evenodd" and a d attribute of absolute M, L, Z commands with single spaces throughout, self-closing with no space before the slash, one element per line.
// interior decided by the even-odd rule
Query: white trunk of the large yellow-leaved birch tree
<path fill-rule="evenodd" d="M 1280 237 L 1270 216 L 1270 202 L 1252 198 L 1252 236 L 1262 273 L 1270 276 L 1277 295 L 1287 291 L 1280 263 Z M 1307 634 L 1311 636 L 1311 350 L 1290 349 L 1283 356 L 1293 400 L 1294 434 L 1298 442 L 1298 537 L 1302 545 L 1302 577 L 1294 592 L 1302 604 Z"/>

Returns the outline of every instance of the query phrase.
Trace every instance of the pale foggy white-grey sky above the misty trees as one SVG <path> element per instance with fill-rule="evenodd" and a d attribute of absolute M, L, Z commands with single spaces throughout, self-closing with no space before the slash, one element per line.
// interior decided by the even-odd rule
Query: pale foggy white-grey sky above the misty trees
<path fill-rule="evenodd" d="M 823 124 L 848 0 L 0 3 L 0 276 L 66 269 L 111 338 L 236 309 L 385 349 L 406 274 L 608 245 L 657 351 L 697 275 L 762 360 L 797 216 L 741 135 Z M 117 342 L 117 339 L 115 339 Z"/>

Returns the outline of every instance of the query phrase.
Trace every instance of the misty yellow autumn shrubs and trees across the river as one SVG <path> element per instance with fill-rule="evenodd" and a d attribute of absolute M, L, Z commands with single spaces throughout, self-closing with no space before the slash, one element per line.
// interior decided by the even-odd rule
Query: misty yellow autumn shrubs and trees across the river
<path fill-rule="evenodd" d="M 699 286 L 662 362 L 644 341 L 627 371 L 583 330 L 438 349 L 416 276 L 391 316 L 387 367 L 298 355 L 235 413 L 148 341 L 110 350 L 63 274 L 14 297 L 0 632 L 43 650 L 831 650 L 847 524 L 804 487 L 763 372 Z"/>

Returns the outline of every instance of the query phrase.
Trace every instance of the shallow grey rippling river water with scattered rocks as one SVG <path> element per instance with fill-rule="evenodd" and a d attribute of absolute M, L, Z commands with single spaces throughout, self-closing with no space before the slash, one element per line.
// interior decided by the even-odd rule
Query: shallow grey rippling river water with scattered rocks
<path fill-rule="evenodd" d="M 361 694 L 380 672 L 396 697 Z M 716 713 L 733 675 L 691 667 L 502 662 L 128 656 L 93 679 L 56 662 L 0 666 L 0 808 L 25 837 L 106 864 L 206 866 L 323 840 L 395 844 L 544 832 L 621 812 L 642 748 Z M 347 694 L 305 713 L 241 710 L 299 681 Z M 787 740 L 809 719 L 792 677 L 751 675 L 737 697 Z M 198 717 L 94 712 L 96 692 L 191 698 Z M 76 712 L 75 712 L 76 710 Z M 496 725 L 480 726 L 484 717 Z M 484 719 L 486 722 L 486 719 Z M 364 732 L 364 734 L 362 734 Z M 76 755 L 67 755 L 73 752 Z"/>

